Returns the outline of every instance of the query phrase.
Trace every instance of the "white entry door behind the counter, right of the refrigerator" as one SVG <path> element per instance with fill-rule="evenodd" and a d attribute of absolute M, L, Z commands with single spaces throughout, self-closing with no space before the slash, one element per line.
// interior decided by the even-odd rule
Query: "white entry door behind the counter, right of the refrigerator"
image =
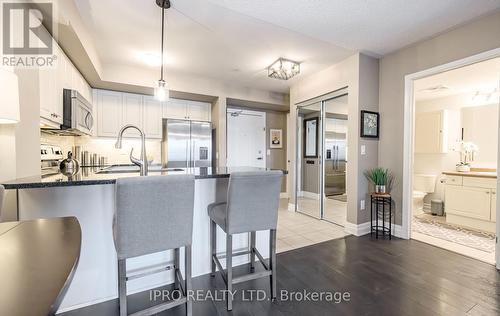
<path fill-rule="evenodd" d="M 266 113 L 227 109 L 227 166 L 266 167 Z"/>

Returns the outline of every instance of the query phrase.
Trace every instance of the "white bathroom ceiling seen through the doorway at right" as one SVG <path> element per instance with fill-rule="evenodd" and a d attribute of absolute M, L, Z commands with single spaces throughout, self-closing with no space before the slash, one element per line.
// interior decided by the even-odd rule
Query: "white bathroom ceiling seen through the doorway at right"
<path fill-rule="evenodd" d="M 427 91 L 437 86 L 445 86 L 448 89 Z M 476 91 L 489 93 L 499 88 L 500 58 L 494 58 L 417 80 L 415 99 L 423 101 L 466 93 L 474 94 Z"/>

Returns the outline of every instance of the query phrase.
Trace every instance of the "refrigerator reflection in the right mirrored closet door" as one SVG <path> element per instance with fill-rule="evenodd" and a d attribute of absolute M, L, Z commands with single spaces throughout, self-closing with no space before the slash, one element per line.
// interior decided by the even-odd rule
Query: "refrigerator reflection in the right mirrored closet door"
<path fill-rule="evenodd" d="M 325 195 L 346 193 L 347 120 L 327 118 L 325 131 Z"/>

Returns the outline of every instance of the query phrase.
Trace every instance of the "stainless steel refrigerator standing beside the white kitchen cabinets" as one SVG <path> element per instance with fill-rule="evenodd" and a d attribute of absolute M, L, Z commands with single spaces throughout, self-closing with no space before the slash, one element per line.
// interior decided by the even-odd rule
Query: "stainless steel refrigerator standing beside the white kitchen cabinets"
<path fill-rule="evenodd" d="M 212 135 L 210 122 L 163 120 L 163 166 L 212 167 Z"/>

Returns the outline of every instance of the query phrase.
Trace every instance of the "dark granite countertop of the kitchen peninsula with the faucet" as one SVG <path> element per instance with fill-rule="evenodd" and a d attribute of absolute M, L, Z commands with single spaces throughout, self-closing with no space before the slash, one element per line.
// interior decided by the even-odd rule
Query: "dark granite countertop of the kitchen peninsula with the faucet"
<path fill-rule="evenodd" d="M 82 167 L 74 176 L 66 176 L 58 173 L 48 176 L 35 176 L 20 178 L 12 181 L 6 181 L 2 184 L 5 189 L 34 189 L 34 188 L 50 188 L 50 187 L 65 187 L 79 185 L 99 185 L 99 184 L 114 184 L 118 178 L 138 177 L 139 171 L 117 173 L 99 172 L 101 169 L 97 167 Z M 168 170 L 149 171 L 149 176 L 169 175 L 169 174 L 194 174 L 196 179 L 213 179 L 213 178 L 229 178 L 231 172 L 235 171 L 258 171 L 264 170 L 253 167 L 225 167 L 225 168 L 179 168 Z M 287 174 L 283 170 L 283 174 Z"/>

